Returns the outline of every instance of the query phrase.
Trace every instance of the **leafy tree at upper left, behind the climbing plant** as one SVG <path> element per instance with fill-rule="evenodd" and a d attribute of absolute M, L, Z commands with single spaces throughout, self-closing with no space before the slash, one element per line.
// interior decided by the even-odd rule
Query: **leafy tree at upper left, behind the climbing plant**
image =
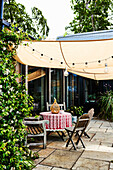
<path fill-rule="evenodd" d="M 17 24 L 18 28 L 22 28 L 36 39 L 48 36 L 49 27 L 42 12 L 36 7 L 31 10 L 32 17 L 26 12 L 24 5 L 16 3 L 15 0 L 7 0 L 4 3 L 3 17 L 11 24 Z"/>

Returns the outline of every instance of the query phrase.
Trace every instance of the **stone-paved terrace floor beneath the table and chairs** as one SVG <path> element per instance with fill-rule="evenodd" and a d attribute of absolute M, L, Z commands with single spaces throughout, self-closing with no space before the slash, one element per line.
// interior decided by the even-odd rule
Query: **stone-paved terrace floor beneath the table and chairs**
<path fill-rule="evenodd" d="M 71 144 L 66 148 L 66 142 L 51 134 L 46 149 L 32 149 L 40 156 L 33 170 L 113 170 L 113 122 L 92 120 L 87 132 L 90 139 L 82 137 L 86 148 L 79 143 L 77 150 Z"/>

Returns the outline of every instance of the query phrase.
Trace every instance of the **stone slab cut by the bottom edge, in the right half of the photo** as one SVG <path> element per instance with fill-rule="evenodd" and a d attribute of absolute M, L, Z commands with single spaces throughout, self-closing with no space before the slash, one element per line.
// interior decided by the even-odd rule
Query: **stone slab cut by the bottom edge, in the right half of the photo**
<path fill-rule="evenodd" d="M 79 158 L 72 170 L 108 170 L 109 162 Z"/>

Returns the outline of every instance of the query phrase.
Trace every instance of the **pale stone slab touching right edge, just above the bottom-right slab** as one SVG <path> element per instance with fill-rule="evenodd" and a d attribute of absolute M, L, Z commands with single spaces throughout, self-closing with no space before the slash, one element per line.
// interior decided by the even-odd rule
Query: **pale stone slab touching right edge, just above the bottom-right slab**
<path fill-rule="evenodd" d="M 101 151 L 84 151 L 81 157 L 102 161 L 111 161 L 113 160 L 113 153 Z"/>

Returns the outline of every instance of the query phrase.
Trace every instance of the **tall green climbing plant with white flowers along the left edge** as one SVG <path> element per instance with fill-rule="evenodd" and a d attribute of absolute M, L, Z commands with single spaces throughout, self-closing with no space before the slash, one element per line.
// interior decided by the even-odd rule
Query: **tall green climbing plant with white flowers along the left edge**
<path fill-rule="evenodd" d="M 16 48 L 25 39 L 21 31 L 0 32 L 0 169 L 30 169 L 31 152 L 25 144 L 26 128 L 23 119 L 30 115 L 32 98 L 26 95 L 25 85 L 16 81 L 13 59 Z M 33 156 L 32 156 L 33 157 Z"/>

